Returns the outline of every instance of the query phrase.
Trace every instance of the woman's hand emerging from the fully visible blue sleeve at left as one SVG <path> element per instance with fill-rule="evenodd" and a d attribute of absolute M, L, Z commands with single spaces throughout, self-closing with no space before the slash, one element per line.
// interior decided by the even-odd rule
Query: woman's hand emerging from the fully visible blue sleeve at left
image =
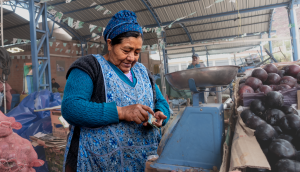
<path fill-rule="evenodd" d="M 147 123 L 148 113 L 154 116 L 153 110 L 145 105 L 135 104 L 130 106 L 118 107 L 119 120 L 132 122 L 134 121 L 137 124 Z"/>

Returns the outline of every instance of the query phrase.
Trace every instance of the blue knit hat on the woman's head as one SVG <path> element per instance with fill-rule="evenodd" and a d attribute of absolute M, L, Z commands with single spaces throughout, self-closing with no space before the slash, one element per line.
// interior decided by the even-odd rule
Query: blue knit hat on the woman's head
<path fill-rule="evenodd" d="M 140 32 L 143 35 L 143 29 L 138 24 L 135 13 L 128 10 L 119 11 L 106 26 L 103 33 L 104 40 L 114 39 L 116 36 L 130 31 Z"/>

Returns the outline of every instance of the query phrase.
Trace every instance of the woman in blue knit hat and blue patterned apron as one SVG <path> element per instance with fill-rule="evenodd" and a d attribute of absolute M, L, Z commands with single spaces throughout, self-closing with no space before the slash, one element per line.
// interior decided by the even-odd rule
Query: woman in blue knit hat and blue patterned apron
<path fill-rule="evenodd" d="M 170 112 L 154 79 L 138 63 L 143 32 L 131 11 L 115 14 L 104 31 L 108 53 L 88 55 L 67 72 L 62 115 L 72 125 L 65 171 L 144 171 L 156 155 Z"/>

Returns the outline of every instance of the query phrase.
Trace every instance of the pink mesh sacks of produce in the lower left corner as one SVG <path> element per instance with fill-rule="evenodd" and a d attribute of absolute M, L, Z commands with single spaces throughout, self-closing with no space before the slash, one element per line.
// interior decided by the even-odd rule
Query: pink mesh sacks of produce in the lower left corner
<path fill-rule="evenodd" d="M 44 165 L 39 160 L 30 141 L 14 133 L 22 125 L 13 117 L 0 112 L 0 171 L 35 172 L 33 167 Z"/>

